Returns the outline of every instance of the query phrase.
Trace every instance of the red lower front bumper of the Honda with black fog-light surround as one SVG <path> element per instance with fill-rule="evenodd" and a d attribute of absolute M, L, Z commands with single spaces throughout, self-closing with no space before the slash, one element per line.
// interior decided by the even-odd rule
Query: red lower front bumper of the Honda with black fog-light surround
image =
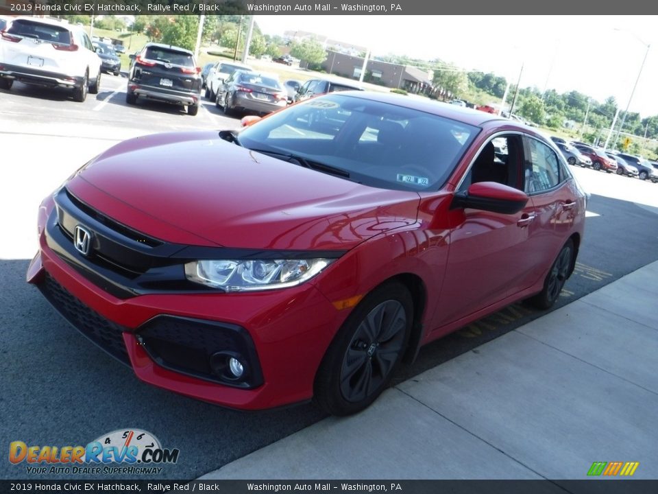
<path fill-rule="evenodd" d="M 314 285 L 243 294 L 172 291 L 118 298 L 49 247 L 46 224 L 53 217 L 52 204 L 42 206 L 40 250 L 27 281 L 84 336 L 131 366 L 139 379 L 243 410 L 313 396 L 319 362 L 346 316 Z M 217 353 L 220 360 L 221 355 L 240 357 L 245 379 L 222 376 L 213 357 Z"/>

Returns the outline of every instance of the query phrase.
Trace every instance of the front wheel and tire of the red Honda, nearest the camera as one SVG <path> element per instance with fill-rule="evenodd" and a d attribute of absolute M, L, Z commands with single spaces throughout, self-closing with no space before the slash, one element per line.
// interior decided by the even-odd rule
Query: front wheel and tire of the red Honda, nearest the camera
<path fill-rule="evenodd" d="M 315 403 L 332 415 L 367 408 L 400 364 L 413 323 L 413 300 L 398 282 L 380 285 L 352 311 L 320 363 Z"/>

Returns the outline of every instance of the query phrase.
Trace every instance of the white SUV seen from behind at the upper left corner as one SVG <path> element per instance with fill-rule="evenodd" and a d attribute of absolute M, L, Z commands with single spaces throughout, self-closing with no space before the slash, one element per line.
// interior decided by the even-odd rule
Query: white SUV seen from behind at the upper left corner
<path fill-rule="evenodd" d="M 0 89 L 24 84 L 73 89 L 84 102 L 98 93 L 101 58 L 82 27 L 49 19 L 16 17 L 0 31 Z"/>

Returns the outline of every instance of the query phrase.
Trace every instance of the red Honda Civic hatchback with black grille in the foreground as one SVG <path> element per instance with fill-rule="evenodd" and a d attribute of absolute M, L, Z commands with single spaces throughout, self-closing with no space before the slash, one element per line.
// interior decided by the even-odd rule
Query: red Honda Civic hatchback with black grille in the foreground
<path fill-rule="evenodd" d="M 585 193 L 531 128 L 365 92 L 154 134 L 41 204 L 27 280 L 139 379 L 256 410 L 363 410 L 419 346 L 574 269 Z"/>

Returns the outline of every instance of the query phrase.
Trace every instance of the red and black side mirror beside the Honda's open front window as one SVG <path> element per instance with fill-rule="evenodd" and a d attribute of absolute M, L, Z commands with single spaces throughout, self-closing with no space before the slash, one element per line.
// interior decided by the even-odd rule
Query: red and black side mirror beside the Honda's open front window
<path fill-rule="evenodd" d="M 470 208 L 511 215 L 521 211 L 527 202 L 528 196 L 519 189 L 497 182 L 478 182 L 466 192 L 456 193 L 450 209 Z"/>

